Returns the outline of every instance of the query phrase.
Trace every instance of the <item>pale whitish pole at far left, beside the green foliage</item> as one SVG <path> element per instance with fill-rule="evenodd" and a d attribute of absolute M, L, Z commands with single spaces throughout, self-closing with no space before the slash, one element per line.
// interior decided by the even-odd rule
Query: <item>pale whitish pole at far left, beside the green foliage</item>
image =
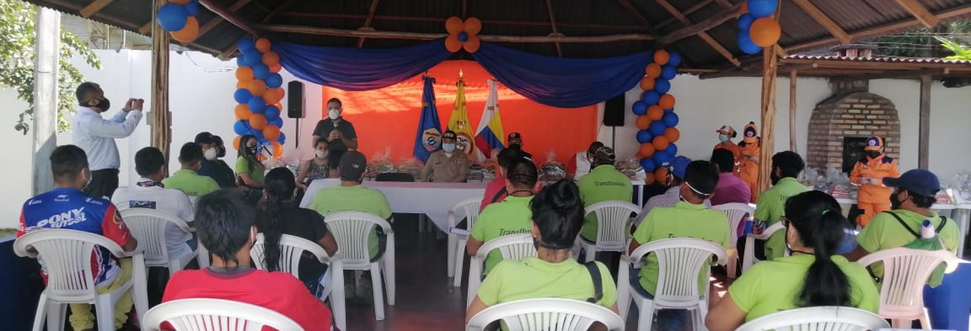
<path fill-rule="evenodd" d="M 50 153 L 57 147 L 57 69 L 60 54 L 60 13 L 37 7 L 34 60 L 33 174 L 34 195 L 54 187 Z"/>

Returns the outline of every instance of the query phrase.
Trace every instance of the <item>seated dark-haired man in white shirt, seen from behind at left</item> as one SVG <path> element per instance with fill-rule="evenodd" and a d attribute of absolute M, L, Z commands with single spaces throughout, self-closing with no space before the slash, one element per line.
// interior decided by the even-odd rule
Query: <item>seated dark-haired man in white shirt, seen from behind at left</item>
<path fill-rule="evenodd" d="M 155 148 L 145 148 L 135 153 L 135 171 L 142 178 L 135 182 L 135 186 L 118 188 L 112 197 L 118 211 L 132 208 L 151 209 L 156 212 L 178 216 L 188 226 L 194 226 L 195 215 L 192 213 L 192 202 L 183 191 L 165 188 L 162 179 L 165 178 L 165 156 Z M 184 233 L 175 224 L 165 225 L 165 244 L 169 250 L 169 257 L 178 257 L 195 250 L 197 246 L 195 233 Z"/>

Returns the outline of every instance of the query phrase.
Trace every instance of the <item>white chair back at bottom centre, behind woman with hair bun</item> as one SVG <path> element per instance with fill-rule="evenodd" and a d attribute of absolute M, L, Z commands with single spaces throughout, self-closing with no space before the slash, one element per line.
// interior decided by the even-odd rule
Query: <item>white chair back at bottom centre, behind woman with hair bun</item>
<path fill-rule="evenodd" d="M 482 331 L 502 319 L 510 331 L 586 331 L 594 322 L 623 330 L 623 319 L 609 309 L 572 299 L 525 299 L 498 304 L 472 316 L 466 331 Z"/>

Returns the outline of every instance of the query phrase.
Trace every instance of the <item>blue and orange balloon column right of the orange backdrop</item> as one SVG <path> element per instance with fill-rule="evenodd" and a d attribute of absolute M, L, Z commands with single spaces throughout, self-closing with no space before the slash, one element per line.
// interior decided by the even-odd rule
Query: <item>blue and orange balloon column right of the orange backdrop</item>
<path fill-rule="evenodd" d="M 678 125 L 678 115 L 674 114 L 675 99 L 667 94 L 671 91 L 671 80 L 678 75 L 681 53 L 657 50 L 653 57 L 654 61 L 645 68 L 647 76 L 641 79 L 644 93 L 632 107 L 637 116 L 635 123 L 640 129 L 637 143 L 641 144 L 641 148 L 637 157 L 641 159 L 644 171 L 654 174 L 653 178 L 648 176 L 645 179 L 648 183 L 653 180 L 664 182 L 667 169 L 662 165 L 678 155 L 678 146 L 674 143 L 681 138 L 681 132 L 675 128 Z"/>

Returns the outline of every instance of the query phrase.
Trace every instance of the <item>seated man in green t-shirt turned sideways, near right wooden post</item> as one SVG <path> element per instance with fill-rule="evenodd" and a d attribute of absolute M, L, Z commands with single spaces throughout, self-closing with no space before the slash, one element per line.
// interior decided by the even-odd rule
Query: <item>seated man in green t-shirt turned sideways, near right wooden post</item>
<path fill-rule="evenodd" d="M 772 187 L 762 192 L 755 208 L 755 222 L 764 224 L 763 229 L 775 224 L 786 216 L 786 201 L 789 197 L 809 190 L 796 177 L 802 172 L 805 163 L 802 157 L 791 150 L 772 155 Z M 765 257 L 773 259 L 786 253 L 786 233 L 776 232 L 765 243 Z"/>

